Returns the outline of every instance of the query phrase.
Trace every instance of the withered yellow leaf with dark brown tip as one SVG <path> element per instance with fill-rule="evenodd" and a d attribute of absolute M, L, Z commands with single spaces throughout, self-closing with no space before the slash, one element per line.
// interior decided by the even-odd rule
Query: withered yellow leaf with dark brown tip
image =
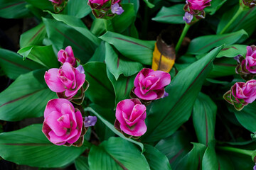
<path fill-rule="evenodd" d="M 152 69 L 170 72 L 176 59 L 174 44 L 167 45 L 161 38 L 157 37 L 153 52 Z"/>

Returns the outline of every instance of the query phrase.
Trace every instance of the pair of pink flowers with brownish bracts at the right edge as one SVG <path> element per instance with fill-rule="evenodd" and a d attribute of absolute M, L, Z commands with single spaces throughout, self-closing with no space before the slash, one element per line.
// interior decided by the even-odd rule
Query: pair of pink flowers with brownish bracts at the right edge
<path fill-rule="evenodd" d="M 223 97 L 240 111 L 256 99 L 256 80 L 252 79 L 256 74 L 256 46 L 247 46 L 246 57 L 240 55 L 235 57 L 235 60 L 238 61 L 236 72 L 241 75 L 242 79 L 248 81 L 235 83 Z"/>

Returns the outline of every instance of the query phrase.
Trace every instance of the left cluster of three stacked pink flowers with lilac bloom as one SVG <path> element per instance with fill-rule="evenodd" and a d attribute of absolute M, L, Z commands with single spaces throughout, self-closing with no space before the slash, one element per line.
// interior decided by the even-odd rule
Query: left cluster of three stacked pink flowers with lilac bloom
<path fill-rule="evenodd" d="M 97 120 L 95 116 L 89 116 L 83 121 L 81 112 L 70 102 L 76 103 L 76 100 L 84 98 L 87 87 L 84 89 L 83 85 L 86 82 L 88 86 L 85 71 L 81 65 L 75 68 L 77 60 L 70 46 L 58 52 L 58 61 L 63 65 L 59 69 L 49 69 L 44 77 L 49 89 L 59 98 L 48 101 L 42 131 L 55 145 L 80 147 L 87 127 L 95 125 Z M 78 91 L 80 93 L 76 96 Z"/>

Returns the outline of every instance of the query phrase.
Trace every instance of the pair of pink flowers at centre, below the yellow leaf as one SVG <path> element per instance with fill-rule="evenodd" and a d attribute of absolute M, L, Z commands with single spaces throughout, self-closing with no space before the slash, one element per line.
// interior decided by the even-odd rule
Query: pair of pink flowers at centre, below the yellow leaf
<path fill-rule="evenodd" d="M 139 137 L 146 132 L 146 106 L 152 100 L 164 96 L 164 87 L 170 84 L 169 73 L 154 71 L 153 69 L 142 69 L 134 79 L 132 93 L 137 98 L 127 99 L 117 103 L 114 127 L 133 137 Z M 139 100 L 139 99 L 141 100 Z"/>

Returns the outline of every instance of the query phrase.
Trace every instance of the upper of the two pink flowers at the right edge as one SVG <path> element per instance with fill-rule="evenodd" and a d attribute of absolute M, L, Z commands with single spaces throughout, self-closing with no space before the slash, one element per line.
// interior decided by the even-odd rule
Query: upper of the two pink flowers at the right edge
<path fill-rule="evenodd" d="M 256 46 L 247 46 L 247 54 L 245 60 L 242 61 L 245 64 L 248 72 L 256 74 Z"/>

